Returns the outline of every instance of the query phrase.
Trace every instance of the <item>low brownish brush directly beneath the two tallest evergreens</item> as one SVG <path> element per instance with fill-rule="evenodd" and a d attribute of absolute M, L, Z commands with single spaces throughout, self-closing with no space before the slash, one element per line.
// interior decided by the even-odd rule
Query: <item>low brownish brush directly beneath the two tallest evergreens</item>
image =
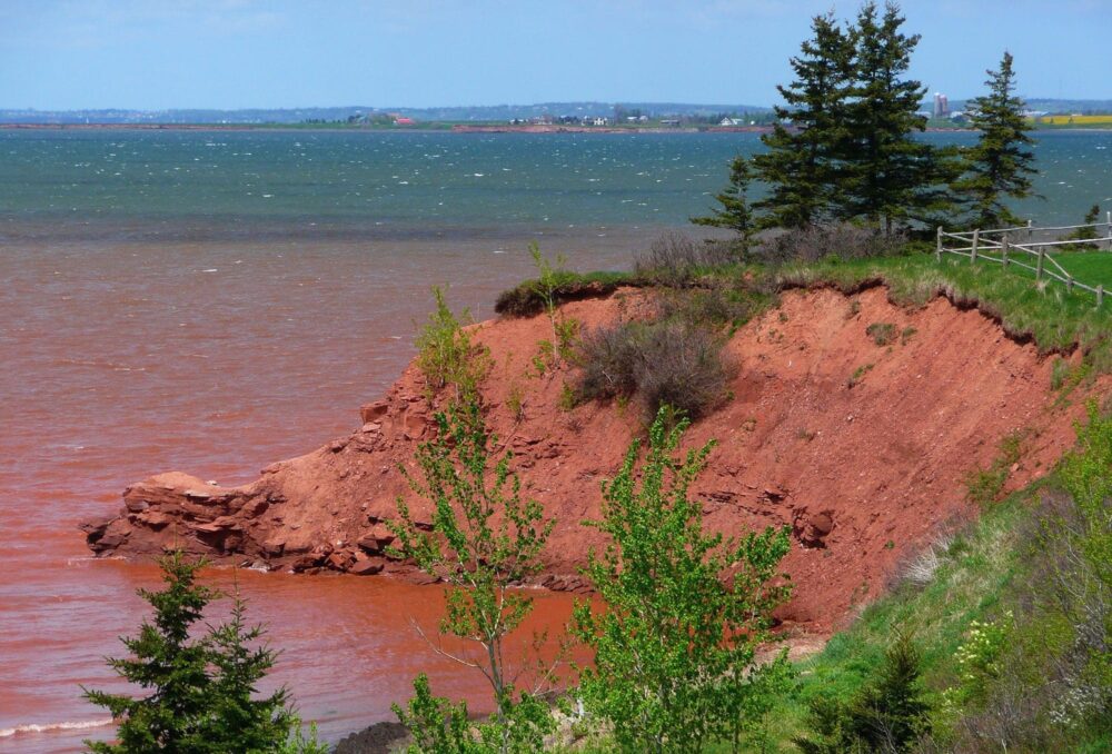
<path fill-rule="evenodd" d="M 884 234 L 873 228 L 836 224 L 816 225 L 781 234 L 758 246 L 754 255 L 774 264 L 846 260 L 892 257 L 903 254 L 906 247 L 907 237 L 902 234 Z"/>

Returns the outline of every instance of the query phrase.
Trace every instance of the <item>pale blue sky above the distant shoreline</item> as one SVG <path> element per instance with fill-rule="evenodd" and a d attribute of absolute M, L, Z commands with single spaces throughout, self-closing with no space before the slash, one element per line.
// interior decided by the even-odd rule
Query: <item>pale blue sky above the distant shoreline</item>
<path fill-rule="evenodd" d="M 772 105 L 843 0 L 0 0 L 0 108 Z M 1112 98 L 1112 0 L 906 0 L 912 76 Z"/>

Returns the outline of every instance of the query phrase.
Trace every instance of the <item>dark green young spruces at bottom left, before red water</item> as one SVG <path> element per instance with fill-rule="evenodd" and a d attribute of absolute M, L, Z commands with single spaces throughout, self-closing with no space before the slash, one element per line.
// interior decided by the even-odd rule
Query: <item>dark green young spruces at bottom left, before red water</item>
<path fill-rule="evenodd" d="M 150 695 L 136 698 L 85 689 L 85 696 L 106 707 L 119 722 L 117 741 L 86 742 L 93 752 L 305 752 L 320 754 L 315 737 L 300 735 L 300 721 L 288 706 L 288 692 L 255 698 L 256 684 L 272 667 L 267 646 L 250 648 L 262 638 L 261 627 L 247 628 L 245 603 L 237 599 L 231 619 L 200 637 L 190 627 L 220 594 L 196 583 L 203 563 L 188 560 L 180 550 L 160 560 L 167 587 L 139 589 L 155 608 L 139 635 L 122 638 L 131 656 L 110 658 L 109 666 Z M 291 738 L 292 745 L 291 745 Z"/>

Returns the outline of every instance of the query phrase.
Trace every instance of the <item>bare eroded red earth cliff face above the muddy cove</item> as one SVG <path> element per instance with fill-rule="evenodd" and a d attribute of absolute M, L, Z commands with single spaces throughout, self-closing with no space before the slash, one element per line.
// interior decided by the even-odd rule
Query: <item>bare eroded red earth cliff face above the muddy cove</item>
<path fill-rule="evenodd" d="M 562 315 L 594 327 L 645 309 L 644 294 L 619 291 L 567 304 Z M 866 334 L 874 323 L 894 326 L 891 345 Z M 643 430 L 643 413 L 614 404 L 563 410 L 568 368 L 537 377 L 530 364 L 550 336 L 544 316 L 475 327 L 494 360 L 483 386 L 488 424 L 513 450 L 526 494 L 557 522 L 539 583 L 580 589 L 577 568 L 603 544 L 580 523 L 598 517 L 599 482 Z M 973 515 L 965 478 L 997 457 L 1002 438 L 1023 433 L 1007 483 L 1015 488 L 1072 444 L 1081 411 L 1076 395 L 1071 406 L 1055 406 L 1050 359 L 943 298 L 911 310 L 890 304 L 883 288 L 851 298 L 788 292 L 781 308 L 741 328 L 727 350 L 739 367 L 732 395 L 685 437 L 692 446 L 718 440 L 694 494 L 709 528 L 792 527 L 784 566 L 795 592 L 778 615 L 808 631 L 833 628 L 882 591 L 903 560 Z M 1109 387 L 1105 378 L 1093 390 Z M 522 398 L 520 411 L 507 405 L 512 396 Z M 434 410 L 410 366 L 381 400 L 361 408 L 358 429 L 267 467 L 252 484 L 227 488 L 170 473 L 132 485 L 118 514 L 83 527 L 89 546 L 149 556 L 177 545 L 270 569 L 424 581 L 387 557 L 393 537 L 385 522 L 398 496 L 418 522 L 430 518 L 398 469 L 414 467 L 417 444 L 434 431 Z"/>

